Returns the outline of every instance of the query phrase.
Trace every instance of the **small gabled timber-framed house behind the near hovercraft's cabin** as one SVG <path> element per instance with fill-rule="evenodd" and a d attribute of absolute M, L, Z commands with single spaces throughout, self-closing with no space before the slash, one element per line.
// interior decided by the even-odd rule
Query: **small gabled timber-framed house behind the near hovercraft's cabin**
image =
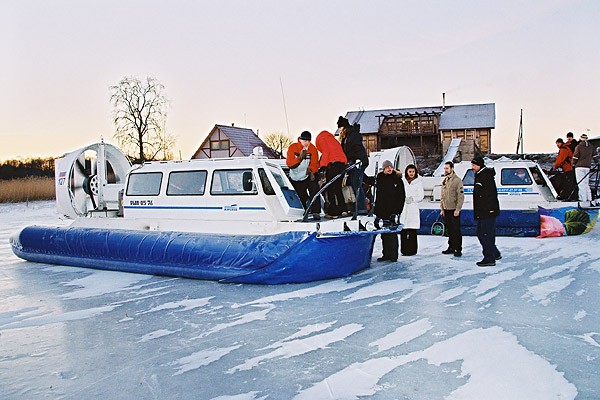
<path fill-rule="evenodd" d="M 255 147 L 262 147 L 265 157 L 277 158 L 275 152 L 252 129 L 217 124 L 192 158 L 248 157 Z"/>

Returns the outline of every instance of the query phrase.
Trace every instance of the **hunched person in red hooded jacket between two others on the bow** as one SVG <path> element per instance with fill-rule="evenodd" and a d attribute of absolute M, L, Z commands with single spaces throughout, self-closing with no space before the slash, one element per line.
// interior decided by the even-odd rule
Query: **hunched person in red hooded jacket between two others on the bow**
<path fill-rule="evenodd" d="M 317 145 L 317 149 L 321 152 L 319 167 L 320 169 L 325 170 L 325 179 L 329 182 L 344 171 L 348 159 L 346 158 L 346 154 L 344 154 L 342 145 L 331 132 L 322 131 L 319 133 L 315 144 Z M 333 182 L 331 186 L 327 188 L 326 193 L 327 214 L 325 214 L 325 217 L 337 218 L 340 215 L 347 215 L 344 210 L 346 202 L 344 200 L 344 194 L 342 193 L 342 179 L 338 178 Z"/>

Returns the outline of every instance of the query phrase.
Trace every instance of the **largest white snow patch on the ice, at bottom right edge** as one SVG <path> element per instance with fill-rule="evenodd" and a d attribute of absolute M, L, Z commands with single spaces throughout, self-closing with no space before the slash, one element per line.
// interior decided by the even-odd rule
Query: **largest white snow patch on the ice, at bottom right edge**
<path fill-rule="evenodd" d="M 383 376 L 420 359 L 436 366 L 462 361 L 459 377 L 467 377 L 467 383 L 446 397 L 450 400 L 545 400 L 577 396 L 577 388 L 556 366 L 520 345 L 513 334 L 492 327 L 473 329 L 404 356 L 354 363 L 301 391 L 295 399 L 372 396 L 380 389 L 378 382 Z"/>

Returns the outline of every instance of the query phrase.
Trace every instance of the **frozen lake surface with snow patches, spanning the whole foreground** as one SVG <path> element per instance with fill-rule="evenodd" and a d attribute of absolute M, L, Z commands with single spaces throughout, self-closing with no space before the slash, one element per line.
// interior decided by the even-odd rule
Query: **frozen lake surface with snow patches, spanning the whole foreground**
<path fill-rule="evenodd" d="M 498 238 L 475 266 L 419 254 L 346 279 L 248 286 L 29 263 L 0 205 L 2 399 L 597 399 L 600 228 Z M 306 260 L 307 263 L 310 260 Z"/>

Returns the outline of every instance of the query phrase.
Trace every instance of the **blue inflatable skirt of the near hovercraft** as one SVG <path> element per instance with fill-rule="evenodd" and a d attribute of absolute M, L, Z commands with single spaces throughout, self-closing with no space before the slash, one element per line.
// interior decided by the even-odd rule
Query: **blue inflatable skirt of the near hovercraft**
<path fill-rule="evenodd" d="M 27 261 L 230 283 L 349 276 L 371 262 L 374 232 L 219 235 L 30 226 L 11 238 Z"/>

